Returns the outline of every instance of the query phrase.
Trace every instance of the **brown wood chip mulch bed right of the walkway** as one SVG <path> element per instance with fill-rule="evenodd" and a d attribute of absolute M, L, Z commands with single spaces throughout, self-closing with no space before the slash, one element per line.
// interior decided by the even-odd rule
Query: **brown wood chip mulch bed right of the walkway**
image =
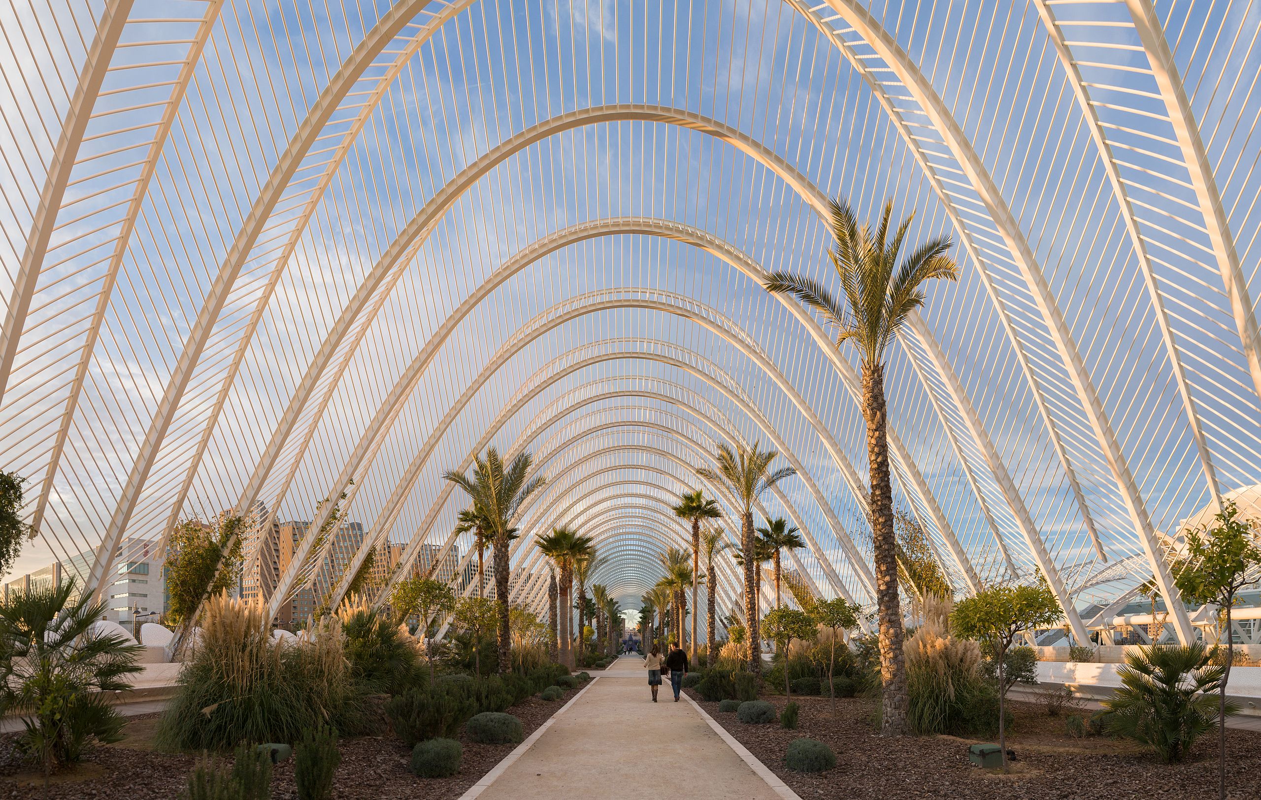
<path fill-rule="evenodd" d="M 1216 734 L 1200 739 L 1188 761 L 1165 765 L 1130 742 L 1071 738 L 1063 717 L 1049 717 L 1039 705 L 1013 703 L 1015 723 L 1008 747 L 1016 752 L 1016 761 L 1011 775 L 1001 775 L 968 762 L 968 746 L 981 739 L 880 737 L 869 722 L 873 704 L 868 700 L 837 699 L 834 715 L 826 698 L 794 697 L 801 707 L 798 727 L 786 731 L 778 724 L 743 724 L 734 713 L 719 713 L 718 703 L 706 703 L 695 690 L 687 693 L 803 800 L 1217 797 Z M 779 695 L 762 699 L 779 709 L 787 703 Z M 836 768 L 816 775 L 788 770 L 784 752 L 799 737 L 826 742 L 836 753 Z M 1228 796 L 1261 799 L 1261 733 L 1228 728 L 1226 746 Z"/>

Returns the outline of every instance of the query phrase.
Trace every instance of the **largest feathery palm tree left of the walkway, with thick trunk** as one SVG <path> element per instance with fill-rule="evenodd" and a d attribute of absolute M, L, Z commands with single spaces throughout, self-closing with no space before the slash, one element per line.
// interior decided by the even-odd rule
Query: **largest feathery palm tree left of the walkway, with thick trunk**
<path fill-rule="evenodd" d="M 455 483 L 473 501 L 473 511 L 480 517 L 494 548 L 494 599 L 499 606 L 499 671 L 512 668 L 512 628 L 508 616 L 508 543 L 516 529 L 512 520 L 517 509 L 535 493 L 546 478 L 530 478 L 530 453 L 521 453 L 504 468 L 499 452 L 493 447 L 485 458 L 477 457 L 469 476 L 455 471 L 444 478 Z"/>

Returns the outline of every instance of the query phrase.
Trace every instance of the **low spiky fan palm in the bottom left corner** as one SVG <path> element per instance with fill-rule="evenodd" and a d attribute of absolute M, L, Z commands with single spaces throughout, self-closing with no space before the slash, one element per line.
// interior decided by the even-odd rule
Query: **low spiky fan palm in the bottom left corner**
<path fill-rule="evenodd" d="M 0 603 L 0 715 L 21 718 L 18 748 L 45 775 L 78 761 L 93 739 L 121 738 L 122 718 L 101 694 L 130 689 L 139 645 L 92 623 L 105 604 L 74 582 L 18 593 Z"/>

